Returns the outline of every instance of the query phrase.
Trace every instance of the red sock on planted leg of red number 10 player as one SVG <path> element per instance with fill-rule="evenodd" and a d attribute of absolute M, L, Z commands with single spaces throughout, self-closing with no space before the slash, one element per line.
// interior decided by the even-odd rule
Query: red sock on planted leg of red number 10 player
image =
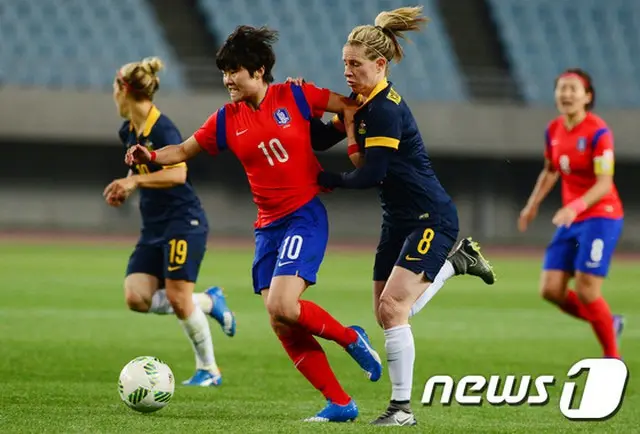
<path fill-rule="evenodd" d="M 278 338 L 296 369 L 326 399 L 338 405 L 351 401 L 331 370 L 324 350 L 311 334 L 301 327 L 292 327 Z"/>

